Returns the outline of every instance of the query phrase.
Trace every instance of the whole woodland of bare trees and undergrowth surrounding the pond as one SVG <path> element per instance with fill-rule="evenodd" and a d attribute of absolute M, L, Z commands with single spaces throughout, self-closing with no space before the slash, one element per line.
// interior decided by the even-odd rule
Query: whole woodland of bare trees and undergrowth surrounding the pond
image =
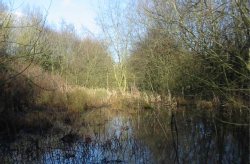
<path fill-rule="evenodd" d="M 107 3 L 101 36 L 79 36 L 48 11 L 17 16 L 0 1 L 0 138 L 79 126 L 86 111 L 197 110 L 247 113 L 250 1 Z M 243 117 L 243 116 L 242 116 Z"/>

